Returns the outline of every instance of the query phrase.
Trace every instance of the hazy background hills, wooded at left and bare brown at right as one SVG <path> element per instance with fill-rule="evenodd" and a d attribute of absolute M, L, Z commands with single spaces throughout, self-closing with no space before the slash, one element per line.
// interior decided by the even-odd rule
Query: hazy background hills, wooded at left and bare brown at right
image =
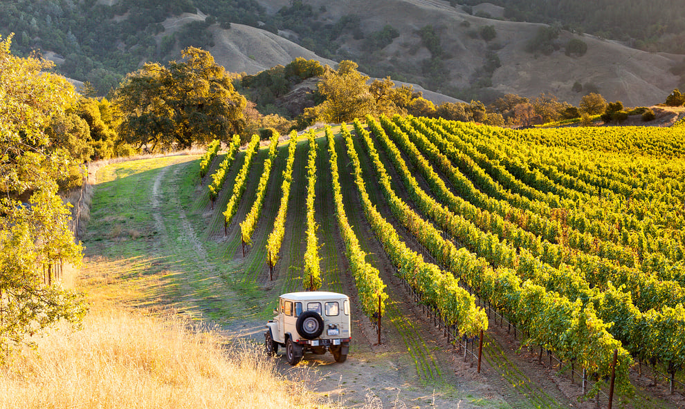
<path fill-rule="evenodd" d="M 506 21 L 522 16 L 507 17 L 518 10 L 513 0 L 466 3 L 100 0 L 29 7 L 8 0 L 0 10 L 0 34 L 15 32 L 18 55 L 39 48 L 57 61 L 60 73 L 89 81 L 100 93 L 143 62 L 178 58 L 191 45 L 210 50 L 235 72 L 256 73 L 294 57 L 329 65 L 352 59 L 372 77 L 391 75 L 486 103 L 504 93 L 545 92 L 577 104 L 592 91 L 641 106 L 663 102 L 685 84 L 683 55 L 647 53 L 560 26 Z M 673 35 L 677 28 L 668 30 Z"/>

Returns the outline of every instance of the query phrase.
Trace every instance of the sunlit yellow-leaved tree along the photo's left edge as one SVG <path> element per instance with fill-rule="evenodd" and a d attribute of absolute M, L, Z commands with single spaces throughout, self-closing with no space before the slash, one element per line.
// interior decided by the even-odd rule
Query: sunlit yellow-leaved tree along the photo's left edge
<path fill-rule="evenodd" d="M 82 258 L 57 196 L 71 155 L 46 133 L 77 95 L 44 72 L 50 63 L 13 56 L 10 42 L 0 39 L 0 350 L 60 318 L 79 322 L 84 312 L 75 292 L 44 283 L 45 267 Z"/>

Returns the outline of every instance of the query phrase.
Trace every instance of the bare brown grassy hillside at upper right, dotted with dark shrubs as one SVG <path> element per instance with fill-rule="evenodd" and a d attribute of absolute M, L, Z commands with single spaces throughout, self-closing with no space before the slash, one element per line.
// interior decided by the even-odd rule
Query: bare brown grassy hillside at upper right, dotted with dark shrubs
<path fill-rule="evenodd" d="M 471 88 L 478 79 L 487 77 L 478 72 L 483 70 L 488 51 L 497 55 L 502 66 L 494 70 L 492 86 L 474 89 L 474 95 L 488 95 L 489 90 L 534 97 L 547 92 L 577 104 L 584 93 L 576 93 L 572 88 L 579 82 L 585 88 L 590 86 L 599 91 L 607 99 L 638 106 L 663 102 L 664 96 L 679 85 L 679 77 L 670 73 L 670 68 L 682 60 L 682 55 L 646 53 L 615 41 L 566 31 L 562 31 L 556 42 L 563 46 L 569 39 L 580 39 L 587 44 L 583 57 L 568 57 L 563 48 L 550 55 L 535 55 L 524 48 L 544 25 L 475 17 L 461 8 L 451 7 L 446 1 L 384 0 L 375 2 L 372 8 L 362 0 L 335 3 L 313 0 L 308 3 L 314 9 L 325 7 L 321 19 L 326 23 L 338 21 L 345 15 L 356 15 L 365 35 L 381 30 L 387 24 L 399 32 L 392 44 L 373 54 L 376 68 L 372 73 L 378 70 L 399 74 L 399 77 L 411 78 L 412 82 L 429 83 L 432 86 L 428 88 L 435 91 L 450 95 L 455 95 L 456 91 L 462 99 L 469 97 L 464 90 Z M 364 13 L 358 12 L 363 9 Z M 430 70 L 423 66 L 432 55 L 417 31 L 428 22 L 439 37 L 443 51 L 439 61 L 446 79 L 442 84 L 436 84 L 430 75 L 426 75 Z M 491 41 L 482 39 L 479 30 L 483 26 L 493 26 L 496 37 Z M 363 40 L 348 35 L 342 47 L 353 59 L 360 56 L 360 69 L 366 68 L 362 57 Z"/>

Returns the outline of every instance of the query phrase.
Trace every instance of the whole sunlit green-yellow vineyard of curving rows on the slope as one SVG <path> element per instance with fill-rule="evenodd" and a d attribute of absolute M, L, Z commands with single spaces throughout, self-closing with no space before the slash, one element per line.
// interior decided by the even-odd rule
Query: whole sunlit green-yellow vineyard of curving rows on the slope
<path fill-rule="evenodd" d="M 271 298 L 350 294 L 378 342 L 399 334 L 422 381 L 446 369 L 403 305 L 464 359 L 485 334 L 502 379 L 512 368 L 489 334 L 504 324 L 515 354 L 556 359 L 583 399 L 634 405 L 643 375 L 684 390 L 684 136 L 369 116 L 262 148 L 212 142 L 199 203 L 231 280 Z M 520 400 L 556 407 L 520 382 Z"/>

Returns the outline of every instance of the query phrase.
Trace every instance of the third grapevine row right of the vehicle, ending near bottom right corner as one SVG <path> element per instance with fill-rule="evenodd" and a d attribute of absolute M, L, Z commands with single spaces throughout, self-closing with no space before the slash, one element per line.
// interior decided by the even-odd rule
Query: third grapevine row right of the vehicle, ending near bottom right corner
<path fill-rule="evenodd" d="M 608 333 L 609 325 L 596 316 L 592 305 L 571 303 L 567 298 L 547 292 L 539 285 L 522 284 L 522 280 L 511 269 L 492 269 L 483 258 L 477 258 L 466 249 L 457 250 L 451 242 L 441 238 L 430 223 L 412 215 L 414 212 L 396 197 L 368 132 L 362 129 L 358 121 L 355 122 L 355 129 L 363 140 L 367 140 L 368 153 L 393 213 L 437 259 L 448 266 L 450 272 L 464 278 L 480 296 L 507 312 L 512 321 L 527 330 L 530 334 L 527 342 L 553 350 L 564 360 L 576 359 L 583 368 L 605 376 L 610 372 L 613 350 L 619 350 L 619 388 L 623 391 L 631 389 L 628 379 L 628 368 L 632 363 L 630 354 Z M 419 225 L 412 225 L 414 222 Z M 426 231 L 430 231 L 434 237 L 426 237 Z M 554 311 L 554 314 L 550 311 Z"/>

